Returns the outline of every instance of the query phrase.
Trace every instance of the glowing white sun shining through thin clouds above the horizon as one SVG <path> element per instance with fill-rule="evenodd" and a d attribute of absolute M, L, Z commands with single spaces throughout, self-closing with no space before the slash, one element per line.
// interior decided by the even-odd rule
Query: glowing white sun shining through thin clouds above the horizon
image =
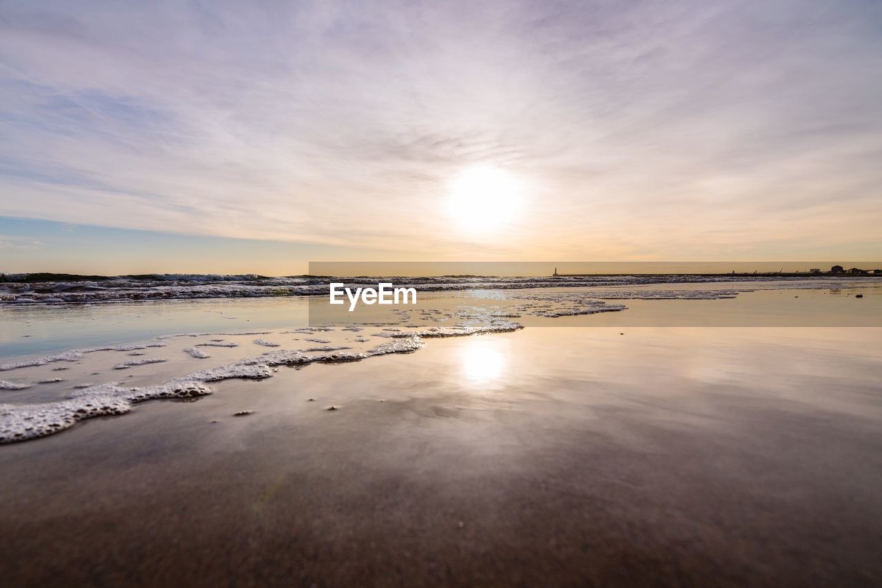
<path fill-rule="evenodd" d="M 486 231 L 511 222 L 523 197 L 523 182 L 495 166 L 467 167 L 450 182 L 447 212 L 460 227 Z"/>

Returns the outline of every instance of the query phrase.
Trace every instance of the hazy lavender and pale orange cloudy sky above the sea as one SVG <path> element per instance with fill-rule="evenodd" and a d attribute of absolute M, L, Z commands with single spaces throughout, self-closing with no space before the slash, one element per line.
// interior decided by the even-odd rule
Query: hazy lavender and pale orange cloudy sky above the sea
<path fill-rule="evenodd" d="M 0 0 L 0 271 L 882 257 L 882 4 Z"/>

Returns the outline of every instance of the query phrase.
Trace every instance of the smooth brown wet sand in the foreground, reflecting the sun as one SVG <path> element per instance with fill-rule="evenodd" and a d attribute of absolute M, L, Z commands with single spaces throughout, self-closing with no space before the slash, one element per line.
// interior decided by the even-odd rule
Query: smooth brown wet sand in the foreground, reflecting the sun
<path fill-rule="evenodd" d="M 0 447 L 3 583 L 879 584 L 880 367 L 876 328 L 527 328 L 221 382 Z"/>

